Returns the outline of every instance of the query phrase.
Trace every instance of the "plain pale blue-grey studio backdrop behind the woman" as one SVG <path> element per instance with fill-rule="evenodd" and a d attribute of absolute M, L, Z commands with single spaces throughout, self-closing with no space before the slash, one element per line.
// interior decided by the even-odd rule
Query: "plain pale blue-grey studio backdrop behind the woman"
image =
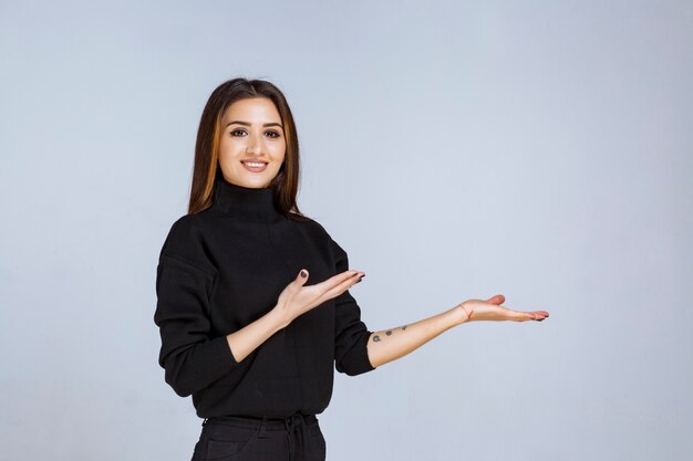
<path fill-rule="evenodd" d="M 691 2 L 0 18 L 3 459 L 189 460 L 201 419 L 157 364 L 156 264 L 203 107 L 246 76 L 286 92 L 299 206 L 366 273 L 370 329 L 496 293 L 550 313 L 338 374 L 330 461 L 690 460 Z"/>

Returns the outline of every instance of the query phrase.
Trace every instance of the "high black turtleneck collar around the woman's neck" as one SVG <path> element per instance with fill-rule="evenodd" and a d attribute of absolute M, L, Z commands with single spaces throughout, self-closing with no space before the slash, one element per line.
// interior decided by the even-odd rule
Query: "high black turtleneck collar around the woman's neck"
<path fill-rule="evenodd" d="M 275 206 L 271 188 L 248 188 L 216 179 L 214 207 L 220 212 L 247 221 L 272 222 L 283 214 Z"/>

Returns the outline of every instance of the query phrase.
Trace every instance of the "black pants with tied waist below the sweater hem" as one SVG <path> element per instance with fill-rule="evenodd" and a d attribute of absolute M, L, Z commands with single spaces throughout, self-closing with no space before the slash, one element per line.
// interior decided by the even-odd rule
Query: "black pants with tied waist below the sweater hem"
<path fill-rule="evenodd" d="M 286 419 L 214 417 L 192 461 L 324 461 L 325 442 L 314 415 Z"/>

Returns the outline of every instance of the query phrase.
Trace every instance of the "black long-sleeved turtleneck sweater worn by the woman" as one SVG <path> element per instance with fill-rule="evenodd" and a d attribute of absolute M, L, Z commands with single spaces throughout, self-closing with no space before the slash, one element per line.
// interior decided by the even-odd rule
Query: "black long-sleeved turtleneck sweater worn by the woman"
<path fill-rule="evenodd" d="M 320 413 L 333 367 L 348 375 L 374 369 L 371 332 L 349 291 L 236 362 L 226 335 L 272 310 L 303 268 L 311 285 L 348 270 L 349 260 L 317 221 L 286 218 L 269 188 L 217 180 L 210 208 L 174 222 L 157 266 L 158 362 L 176 394 L 193 395 L 200 418 Z"/>

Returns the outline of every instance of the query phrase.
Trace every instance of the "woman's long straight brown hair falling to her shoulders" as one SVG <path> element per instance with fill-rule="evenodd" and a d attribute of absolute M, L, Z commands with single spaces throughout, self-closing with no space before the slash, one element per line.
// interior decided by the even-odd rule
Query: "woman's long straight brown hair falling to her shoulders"
<path fill-rule="evenodd" d="M 281 91 L 263 80 L 232 78 L 224 82 L 211 93 L 199 121 L 195 143 L 195 167 L 190 186 L 188 213 L 203 211 L 214 202 L 214 184 L 224 180 L 219 167 L 219 143 L 223 135 L 221 119 L 226 108 L 248 97 L 267 97 L 277 107 L 287 139 L 285 161 L 271 180 L 275 203 L 289 219 L 306 221 L 298 208 L 296 195 L 299 186 L 299 139 L 293 116 Z"/>

